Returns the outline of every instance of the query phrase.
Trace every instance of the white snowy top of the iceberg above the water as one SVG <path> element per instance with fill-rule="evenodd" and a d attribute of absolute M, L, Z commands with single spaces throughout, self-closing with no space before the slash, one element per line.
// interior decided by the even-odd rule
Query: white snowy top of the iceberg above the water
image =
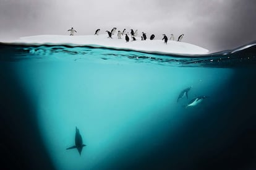
<path fill-rule="evenodd" d="M 137 41 L 126 42 L 125 36 L 118 39 L 117 35 L 113 35 L 113 39 L 108 38 L 107 34 L 101 35 L 36 35 L 25 36 L 19 40 L 2 42 L 10 45 L 67 45 L 67 46 L 90 46 L 94 48 L 111 48 L 124 49 L 132 51 L 140 51 L 145 53 L 156 54 L 207 54 L 208 49 L 189 43 L 168 40 L 167 45 L 162 40 L 141 41 L 137 37 Z"/>

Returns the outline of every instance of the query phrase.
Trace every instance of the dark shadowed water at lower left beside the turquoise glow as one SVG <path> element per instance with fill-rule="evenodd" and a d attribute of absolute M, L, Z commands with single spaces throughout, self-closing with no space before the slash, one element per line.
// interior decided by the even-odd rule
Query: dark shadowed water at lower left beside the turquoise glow
<path fill-rule="evenodd" d="M 40 137 L 35 108 L 8 64 L 1 64 L 0 80 L 0 169 L 54 169 Z"/>

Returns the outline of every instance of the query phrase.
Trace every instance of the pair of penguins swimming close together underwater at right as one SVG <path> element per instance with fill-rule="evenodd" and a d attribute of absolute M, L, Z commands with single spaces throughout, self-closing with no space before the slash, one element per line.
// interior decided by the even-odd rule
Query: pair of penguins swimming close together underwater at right
<path fill-rule="evenodd" d="M 188 87 L 188 88 L 182 90 L 181 93 L 179 93 L 179 97 L 177 98 L 177 102 L 179 102 L 179 100 L 181 98 L 184 98 L 184 96 L 186 96 L 187 99 L 189 99 L 189 96 L 188 96 L 187 93 L 189 93 L 189 90 L 191 88 L 192 87 Z M 208 98 L 208 96 L 197 96 L 196 98 L 193 98 L 192 100 L 189 101 L 189 103 L 187 103 L 186 108 L 197 106 L 197 104 L 201 103 L 205 98 Z"/>

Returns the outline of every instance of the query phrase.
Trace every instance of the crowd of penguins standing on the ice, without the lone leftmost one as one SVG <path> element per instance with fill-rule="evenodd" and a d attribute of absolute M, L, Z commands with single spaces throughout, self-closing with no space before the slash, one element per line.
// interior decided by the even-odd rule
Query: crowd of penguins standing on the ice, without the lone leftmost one
<path fill-rule="evenodd" d="M 106 32 L 108 33 L 108 38 L 112 38 L 112 35 L 114 35 L 114 34 L 116 33 L 116 27 L 114 27 L 114 28 L 111 30 L 111 32 L 109 32 L 108 30 L 106 30 Z M 94 35 L 99 35 L 99 33 L 100 33 L 100 29 L 97 29 L 97 30 L 95 31 L 95 34 L 94 34 Z M 118 37 L 118 39 L 121 39 L 121 36 L 122 36 L 122 35 L 126 35 L 126 42 L 129 42 L 129 40 L 130 40 L 130 38 L 129 38 L 129 36 L 128 36 L 128 35 L 129 35 L 129 32 L 126 32 L 126 28 L 124 28 L 124 30 L 123 30 L 122 32 L 121 32 L 121 31 L 118 31 L 118 32 L 117 32 L 117 37 Z M 138 30 L 135 30 L 135 32 L 134 32 L 134 30 L 130 29 L 130 35 L 131 35 L 131 37 L 132 37 L 132 41 L 135 41 L 135 40 L 136 40 L 135 37 L 137 37 L 137 35 L 138 35 Z M 164 37 L 163 37 L 162 40 L 164 40 L 164 43 L 167 44 L 168 37 L 167 37 L 165 34 L 163 34 L 163 36 L 164 36 Z M 183 38 L 183 36 L 184 36 L 184 34 L 180 35 L 177 41 L 181 41 L 182 38 Z M 142 36 L 140 36 L 140 38 L 141 38 L 142 41 L 143 41 L 143 40 L 147 40 L 147 35 L 146 35 L 146 33 L 142 32 Z M 155 38 L 155 35 L 152 34 L 152 35 L 150 36 L 150 40 L 154 40 L 154 38 Z M 174 35 L 173 35 L 173 34 L 171 34 L 170 40 L 174 40 Z"/>

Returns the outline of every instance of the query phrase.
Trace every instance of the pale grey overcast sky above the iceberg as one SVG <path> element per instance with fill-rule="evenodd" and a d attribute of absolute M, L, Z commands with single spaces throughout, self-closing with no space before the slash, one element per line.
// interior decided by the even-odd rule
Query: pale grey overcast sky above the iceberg
<path fill-rule="evenodd" d="M 209 49 L 233 49 L 256 40 L 255 0 L 0 0 L 0 41 L 30 35 L 92 35 L 116 27 Z"/>

